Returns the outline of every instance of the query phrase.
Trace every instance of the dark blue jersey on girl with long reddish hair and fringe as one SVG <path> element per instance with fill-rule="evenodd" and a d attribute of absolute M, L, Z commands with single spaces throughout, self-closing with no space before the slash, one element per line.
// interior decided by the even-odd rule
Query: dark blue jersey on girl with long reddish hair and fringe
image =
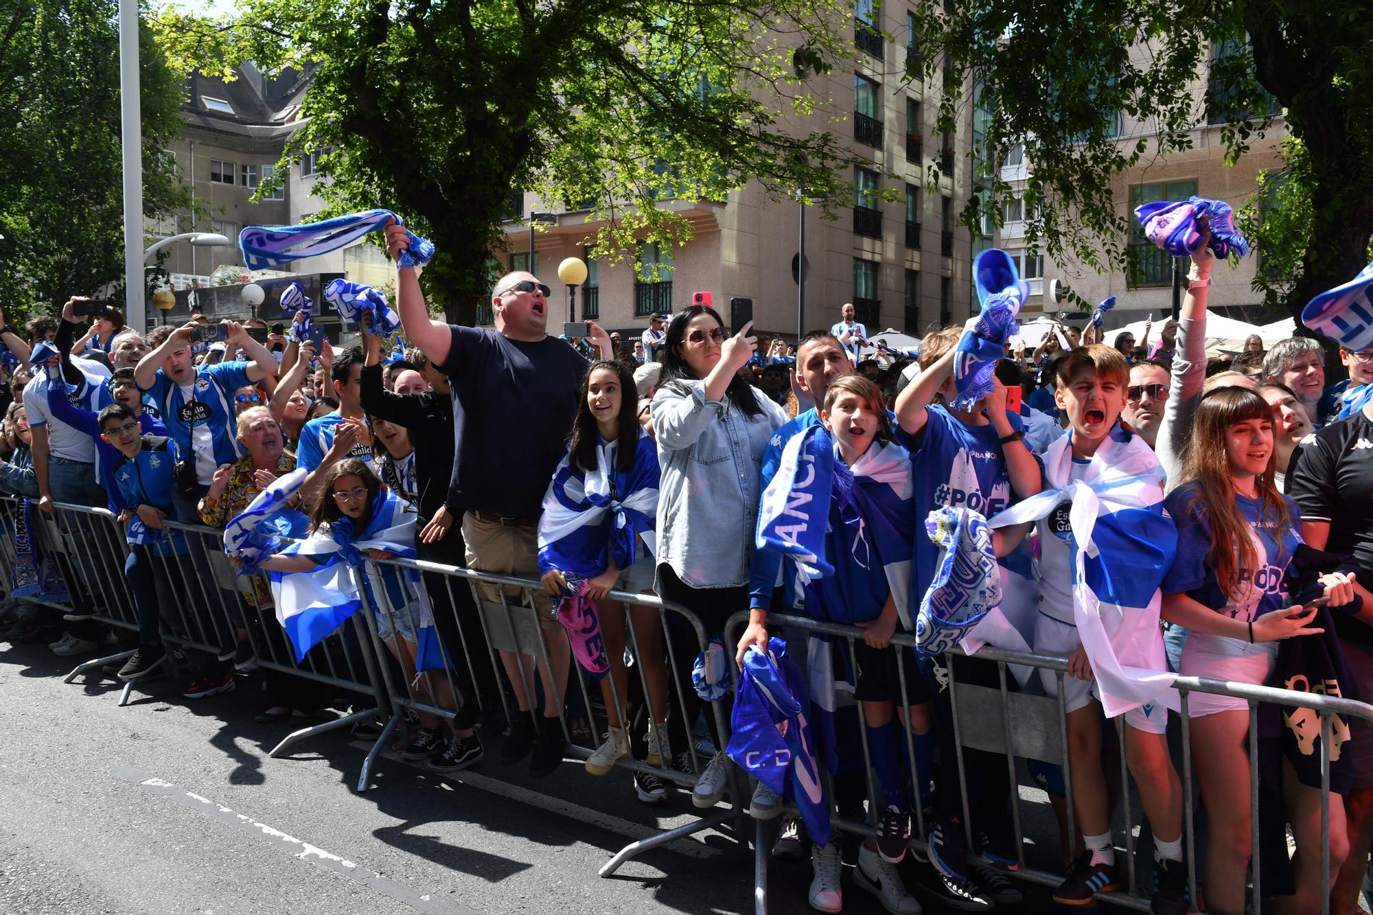
<path fill-rule="evenodd" d="M 1229 596 L 1221 589 L 1215 569 L 1207 561 L 1214 540 L 1201 489 L 1195 482 L 1178 486 L 1163 500 L 1178 528 L 1178 554 L 1163 578 L 1163 591 L 1186 594 L 1216 613 L 1254 622 L 1265 613 L 1292 606 L 1285 576 L 1297 544 L 1302 543 L 1302 511 L 1293 500 L 1284 496 L 1282 517 L 1269 517 L 1260 523 L 1258 500 L 1241 495 L 1236 495 L 1234 500 L 1249 525 L 1258 558 L 1255 567 L 1240 569 L 1238 594 Z"/>

